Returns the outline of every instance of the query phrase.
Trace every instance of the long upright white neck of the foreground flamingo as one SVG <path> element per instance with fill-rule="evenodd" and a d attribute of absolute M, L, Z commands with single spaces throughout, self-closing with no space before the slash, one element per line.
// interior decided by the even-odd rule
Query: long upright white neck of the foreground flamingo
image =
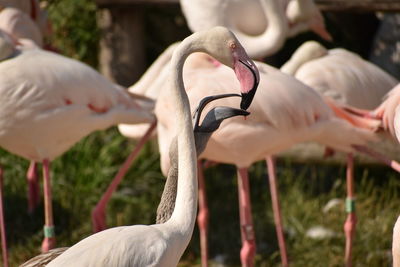
<path fill-rule="evenodd" d="M 171 60 L 171 96 L 177 110 L 178 189 L 175 209 L 167 222 L 185 238 L 185 247 L 193 232 L 197 213 L 197 164 L 189 99 L 183 85 L 183 64 L 192 52 L 202 51 L 201 42 L 186 38 Z"/>

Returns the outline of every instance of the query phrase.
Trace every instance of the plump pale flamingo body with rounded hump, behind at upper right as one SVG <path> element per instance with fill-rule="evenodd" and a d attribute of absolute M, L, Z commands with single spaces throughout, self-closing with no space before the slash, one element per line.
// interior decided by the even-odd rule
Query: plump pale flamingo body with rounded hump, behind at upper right
<path fill-rule="evenodd" d="M 373 109 L 398 81 L 378 66 L 342 48 L 302 44 L 282 67 L 319 93 L 361 109 Z"/>

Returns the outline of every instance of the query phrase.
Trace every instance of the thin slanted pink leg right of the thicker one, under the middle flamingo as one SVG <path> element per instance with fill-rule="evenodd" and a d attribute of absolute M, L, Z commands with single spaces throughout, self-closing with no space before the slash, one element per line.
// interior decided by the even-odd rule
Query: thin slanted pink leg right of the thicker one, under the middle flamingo
<path fill-rule="evenodd" d="M 282 215 L 281 215 L 281 208 L 279 205 L 278 190 L 276 186 L 275 160 L 272 156 L 267 156 L 266 162 L 268 166 L 268 178 L 269 178 L 269 188 L 271 191 L 272 210 L 274 211 L 276 235 L 278 237 L 279 250 L 281 252 L 282 266 L 287 267 L 289 266 L 289 263 L 288 263 L 288 256 L 285 244 L 285 237 L 283 235 Z"/>

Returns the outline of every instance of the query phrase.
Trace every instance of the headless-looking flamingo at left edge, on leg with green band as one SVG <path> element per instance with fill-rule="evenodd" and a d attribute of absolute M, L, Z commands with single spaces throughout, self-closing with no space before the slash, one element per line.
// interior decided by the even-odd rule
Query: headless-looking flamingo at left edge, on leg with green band
<path fill-rule="evenodd" d="M 12 56 L 0 64 L 0 147 L 43 163 L 47 251 L 55 244 L 50 161 L 95 130 L 153 121 L 153 102 L 52 52 L 15 47 Z"/>

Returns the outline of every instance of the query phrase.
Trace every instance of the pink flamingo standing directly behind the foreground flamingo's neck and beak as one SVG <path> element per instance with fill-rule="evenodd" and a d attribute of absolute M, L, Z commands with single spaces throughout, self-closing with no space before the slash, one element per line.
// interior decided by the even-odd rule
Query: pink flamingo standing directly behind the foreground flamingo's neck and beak
<path fill-rule="evenodd" d="M 197 56 L 207 58 L 205 55 Z M 222 123 L 220 130 L 211 137 L 200 158 L 235 164 L 238 168 L 243 266 L 253 266 L 255 254 L 255 234 L 251 218 L 247 168 L 260 159 L 267 161 L 282 263 L 283 266 L 287 266 L 288 257 L 275 187 L 275 164 L 272 155 L 284 151 L 296 143 L 306 141 L 319 142 L 346 153 L 355 151 L 369 153 L 370 150 L 364 149 L 364 146 L 369 141 L 376 140 L 374 130 L 379 126 L 379 121 L 356 117 L 340 109 L 332 100 L 323 99 L 318 93 L 295 78 L 266 64 L 257 63 L 256 65 L 260 70 L 260 89 L 249 109 L 252 116 L 246 120 L 233 118 L 229 124 Z M 184 81 L 192 105 L 204 97 L 205 93 L 226 93 L 239 86 L 233 79 L 233 73 L 224 66 L 194 69 L 193 71 L 186 69 Z M 204 90 L 205 88 L 207 90 Z M 237 104 L 236 102 L 235 99 L 223 99 L 216 101 L 215 104 L 223 103 L 234 106 Z M 166 152 L 175 133 L 175 122 L 171 116 L 173 111 L 169 104 L 169 97 L 163 90 L 160 92 L 155 112 L 158 118 L 161 166 L 163 173 L 166 173 L 169 169 L 169 157 Z M 351 157 L 349 157 L 350 198 L 352 197 L 351 162 Z M 400 170 L 396 163 L 391 162 L 391 164 Z M 200 185 L 202 185 L 201 181 Z M 204 188 L 200 188 L 200 192 L 201 190 Z M 200 207 L 199 218 L 203 220 L 202 223 L 199 223 L 200 231 L 206 229 L 204 214 L 207 213 L 205 207 Z"/>

